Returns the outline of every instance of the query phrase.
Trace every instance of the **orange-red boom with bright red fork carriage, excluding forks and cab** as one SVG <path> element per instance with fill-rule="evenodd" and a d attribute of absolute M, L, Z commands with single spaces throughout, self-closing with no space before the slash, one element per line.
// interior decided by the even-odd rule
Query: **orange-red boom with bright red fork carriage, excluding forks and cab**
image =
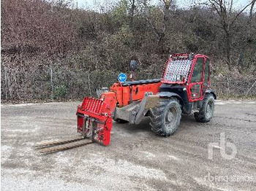
<path fill-rule="evenodd" d="M 107 146 L 110 143 L 110 130 L 112 127 L 111 114 L 116 106 L 127 106 L 129 101 L 141 101 L 148 91 L 156 94 L 159 92 L 161 82 L 122 86 L 114 83 L 110 92 L 102 93 L 97 98 L 84 98 L 81 106 L 78 106 L 78 133 L 89 132 L 91 121 L 94 122 L 93 139 Z M 87 127 L 87 128 L 85 128 Z"/>

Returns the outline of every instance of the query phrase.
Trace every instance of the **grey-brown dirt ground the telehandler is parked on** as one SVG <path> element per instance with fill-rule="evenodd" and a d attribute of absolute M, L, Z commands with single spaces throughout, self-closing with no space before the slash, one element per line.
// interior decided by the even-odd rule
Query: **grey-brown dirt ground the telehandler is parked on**
<path fill-rule="evenodd" d="M 1 105 L 1 190 L 256 190 L 256 103 L 217 101 L 211 122 L 183 116 L 178 131 L 155 136 L 113 122 L 108 147 L 39 155 L 37 142 L 76 136 L 78 103 Z M 208 144 L 214 146 L 209 159 Z M 232 149 L 233 148 L 233 149 Z"/>

